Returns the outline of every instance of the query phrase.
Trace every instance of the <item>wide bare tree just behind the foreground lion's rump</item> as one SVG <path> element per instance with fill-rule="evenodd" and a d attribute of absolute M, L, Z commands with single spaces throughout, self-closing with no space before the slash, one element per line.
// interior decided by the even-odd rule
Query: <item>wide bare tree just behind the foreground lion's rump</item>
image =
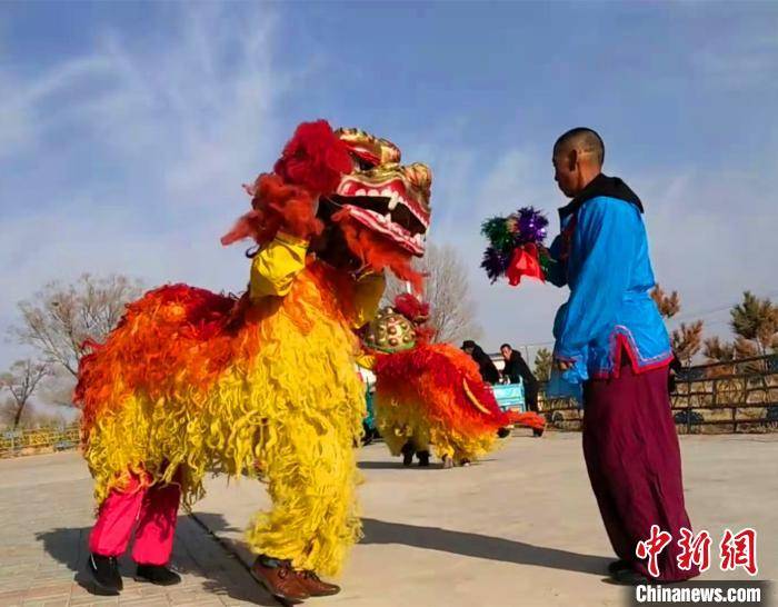
<path fill-rule="evenodd" d="M 22 324 L 11 334 L 76 377 L 83 342 L 104 339 L 141 291 L 139 281 L 117 275 L 83 275 L 67 286 L 50 282 L 32 300 L 19 304 Z"/>

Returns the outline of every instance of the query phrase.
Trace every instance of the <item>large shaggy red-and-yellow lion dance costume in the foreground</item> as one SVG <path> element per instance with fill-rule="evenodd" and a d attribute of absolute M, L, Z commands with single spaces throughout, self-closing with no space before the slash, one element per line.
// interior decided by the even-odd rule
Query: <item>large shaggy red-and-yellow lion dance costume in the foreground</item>
<path fill-rule="evenodd" d="M 248 291 L 159 288 L 92 345 L 76 400 L 100 505 L 93 555 L 123 553 L 138 519 L 133 558 L 167 563 L 179 495 L 200 497 L 209 470 L 248 474 L 272 498 L 247 533 L 260 581 L 282 598 L 337 591 L 316 574 L 337 574 L 360 535 L 353 329 L 375 315 L 385 269 L 419 283 L 430 186 L 390 141 L 300 125 L 222 238 L 257 243 Z"/>

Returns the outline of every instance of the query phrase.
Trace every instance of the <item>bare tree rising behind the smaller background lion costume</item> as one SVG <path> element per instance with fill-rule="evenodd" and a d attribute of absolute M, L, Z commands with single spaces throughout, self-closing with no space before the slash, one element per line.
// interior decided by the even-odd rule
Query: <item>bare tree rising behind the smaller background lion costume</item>
<path fill-rule="evenodd" d="M 480 337 L 481 328 L 476 322 L 476 306 L 470 297 L 467 268 L 457 249 L 450 245 L 430 245 L 417 269 L 427 276 L 423 298 L 430 306 L 429 324 L 435 329 L 433 340 L 456 342 Z M 405 291 L 403 282 L 390 278 L 385 302 L 391 305 L 395 297 Z"/>

